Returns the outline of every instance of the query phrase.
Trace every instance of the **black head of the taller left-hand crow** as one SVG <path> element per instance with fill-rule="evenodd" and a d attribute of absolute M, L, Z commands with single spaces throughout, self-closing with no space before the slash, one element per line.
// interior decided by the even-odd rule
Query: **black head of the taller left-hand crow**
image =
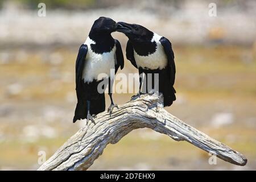
<path fill-rule="evenodd" d="M 115 21 L 101 16 L 93 23 L 90 34 L 111 34 L 115 31 Z"/>

